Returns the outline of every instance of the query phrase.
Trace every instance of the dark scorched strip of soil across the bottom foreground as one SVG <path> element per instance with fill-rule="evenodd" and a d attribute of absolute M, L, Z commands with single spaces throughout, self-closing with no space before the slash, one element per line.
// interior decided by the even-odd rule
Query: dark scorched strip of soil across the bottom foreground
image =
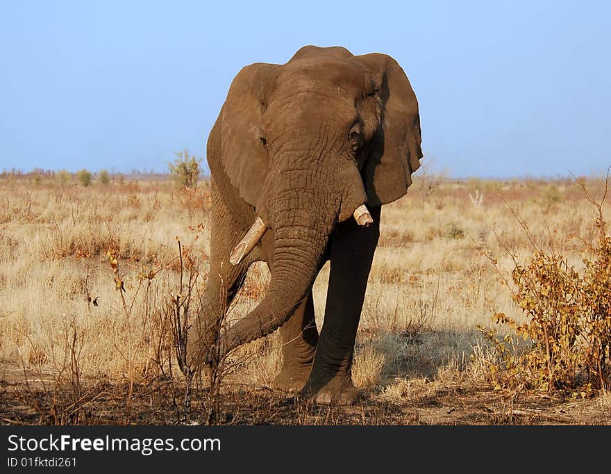
<path fill-rule="evenodd" d="M 44 374 L 0 370 L 0 423 L 5 425 L 176 425 L 185 423 L 184 385 L 98 380 L 81 386 Z M 319 406 L 267 388 L 227 386 L 219 398 L 195 390 L 186 423 L 222 425 L 611 425 L 602 398 L 516 397 L 485 387 L 428 392 L 411 400 L 369 395 L 351 407 Z"/>

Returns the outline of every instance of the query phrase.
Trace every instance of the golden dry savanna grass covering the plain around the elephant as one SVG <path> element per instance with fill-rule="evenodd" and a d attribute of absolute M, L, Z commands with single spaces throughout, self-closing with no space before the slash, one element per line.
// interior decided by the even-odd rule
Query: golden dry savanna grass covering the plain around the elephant
<path fill-rule="evenodd" d="M 537 398 L 525 411 L 515 408 L 519 394 L 493 393 L 486 378 L 493 354 L 477 330 L 494 325 L 497 311 L 521 320 L 510 272 L 512 255 L 520 261 L 533 253 L 530 239 L 581 268 L 587 243 L 596 239 L 594 210 L 582 188 L 572 178 L 453 180 L 419 172 L 414 181 L 405 197 L 383 208 L 362 310 L 353 379 L 368 395 L 369 418 L 361 411 L 356 421 L 346 411 L 325 418 L 301 406 L 285 415 L 300 423 L 608 423 L 608 394 L 590 400 L 589 418 L 563 419 L 541 412 L 545 403 L 558 407 L 562 401 Z M 603 178 L 580 181 L 601 197 Z M 5 397 L 21 393 L 11 420 L 19 417 L 15 407 L 42 416 L 40 406 L 23 401 L 28 398 L 18 389 L 26 383 L 49 392 L 67 382 L 74 389 L 77 377 L 79 394 L 101 381 L 128 384 L 127 395 L 113 399 L 124 411 L 125 398 L 137 398 L 134 386 L 181 381 L 168 319 L 172 298 L 181 293 L 178 241 L 183 279 L 189 269 L 199 271 L 193 314 L 208 272 L 209 208 L 206 181 L 181 190 L 165 179 L 112 179 L 87 187 L 65 175 L 0 179 L 0 379 Z M 108 252 L 125 291 L 116 289 Z M 251 269 L 229 309 L 230 324 L 260 300 L 268 278 L 265 265 Z M 315 283 L 319 327 L 327 279 L 328 265 Z M 267 404 L 266 387 L 281 366 L 277 334 L 240 349 L 232 361 L 224 386 L 227 410 L 244 412 L 240 404 L 253 400 Z M 235 395 L 245 390 L 250 398 Z M 482 393 L 489 401 L 478 402 Z M 167 422 L 160 413 L 178 410 L 174 395 L 174 402 L 168 396 L 159 402 L 161 418 L 147 423 Z M 49 420 L 30 418 L 58 422 Z"/>

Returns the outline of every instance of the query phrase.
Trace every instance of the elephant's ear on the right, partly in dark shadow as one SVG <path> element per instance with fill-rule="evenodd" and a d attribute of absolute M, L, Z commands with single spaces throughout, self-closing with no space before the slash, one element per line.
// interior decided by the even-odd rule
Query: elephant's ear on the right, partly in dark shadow
<path fill-rule="evenodd" d="M 421 136 L 418 101 L 408 76 L 390 56 L 354 56 L 373 79 L 378 98 L 378 129 L 363 170 L 367 204 L 379 206 L 405 195 L 411 174 L 420 167 Z"/>

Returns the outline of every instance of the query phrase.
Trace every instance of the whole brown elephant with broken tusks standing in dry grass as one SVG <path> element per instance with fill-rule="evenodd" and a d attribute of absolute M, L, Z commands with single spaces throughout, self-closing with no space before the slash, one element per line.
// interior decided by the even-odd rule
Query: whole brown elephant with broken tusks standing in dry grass
<path fill-rule="evenodd" d="M 353 402 L 354 343 L 380 209 L 405 195 L 420 143 L 416 96 L 390 56 L 306 46 L 284 65 L 244 67 L 208 138 L 210 273 L 189 336 L 192 365 L 201 368 L 210 348 L 226 352 L 280 328 L 275 386 L 319 403 Z M 327 260 L 319 333 L 312 285 Z M 271 272 L 265 297 L 219 328 L 256 261 Z"/>

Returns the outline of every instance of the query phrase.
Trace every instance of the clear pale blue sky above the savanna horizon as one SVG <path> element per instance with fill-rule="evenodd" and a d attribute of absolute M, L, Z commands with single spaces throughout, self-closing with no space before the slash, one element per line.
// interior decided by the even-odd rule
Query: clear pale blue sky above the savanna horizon
<path fill-rule="evenodd" d="M 610 2 L 385 3 L 0 0 L 0 170 L 164 172 L 174 151 L 205 157 L 233 76 L 304 44 L 396 58 L 430 170 L 611 165 Z"/>

